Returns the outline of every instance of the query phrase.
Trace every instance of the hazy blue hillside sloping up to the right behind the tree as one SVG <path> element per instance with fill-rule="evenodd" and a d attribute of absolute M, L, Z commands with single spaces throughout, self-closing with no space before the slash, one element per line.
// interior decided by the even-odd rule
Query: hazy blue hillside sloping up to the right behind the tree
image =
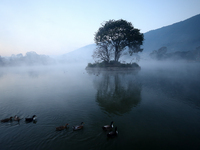
<path fill-rule="evenodd" d="M 168 52 L 190 51 L 200 46 L 200 14 L 187 20 L 144 33 L 144 51 L 165 46 Z"/>

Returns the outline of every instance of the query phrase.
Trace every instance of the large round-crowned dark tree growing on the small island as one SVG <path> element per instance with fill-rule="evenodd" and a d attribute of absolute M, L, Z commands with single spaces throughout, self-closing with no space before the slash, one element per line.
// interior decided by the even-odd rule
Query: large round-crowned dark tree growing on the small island
<path fill-rule="evenodd" d="M 133 53 L 142 52 L 143 49 L 140 46 L 143 44 L 143 40 L 143 34 L 134 28 L 131 22 L 123 19 L 109 20 L 102 24 L 102 27 L 95 33 L 94 41 L 97 49 L 93 57 L 97 56 L 104 60 L 102 54 L 109 54 L 106 57 L 108 59 L 108 56 L 110 58 L 113 53 L 114 61 L 118 62 L 126 48 L 128 48 L 130 56 Z"/>

